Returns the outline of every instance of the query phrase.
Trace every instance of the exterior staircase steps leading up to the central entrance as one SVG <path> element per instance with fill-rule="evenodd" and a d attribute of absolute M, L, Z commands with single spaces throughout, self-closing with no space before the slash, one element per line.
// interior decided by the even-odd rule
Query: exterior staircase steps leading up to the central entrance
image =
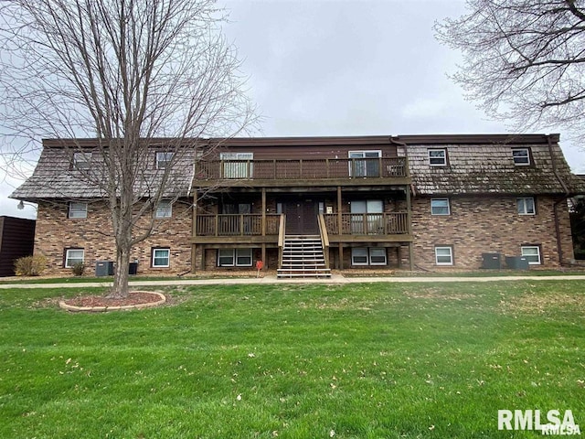
<path fill-rule="evenodd" d="M 286 235 L 277 277 L 331 277 L 319 235 Z"/>

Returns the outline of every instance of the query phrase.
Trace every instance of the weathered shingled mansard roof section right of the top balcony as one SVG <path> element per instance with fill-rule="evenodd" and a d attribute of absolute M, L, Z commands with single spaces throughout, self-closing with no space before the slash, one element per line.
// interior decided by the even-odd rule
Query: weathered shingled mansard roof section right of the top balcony
<path fill-rule="evenodd" d="M 571 173 L 558 134 L 400 136 L 420 195 L 580 194 L 584 182 Z M 429 150 L 444 149 L 446 166 L 431 166 Z M 525 149 L 529 164 L 518 166 L 514 149 Z"/>

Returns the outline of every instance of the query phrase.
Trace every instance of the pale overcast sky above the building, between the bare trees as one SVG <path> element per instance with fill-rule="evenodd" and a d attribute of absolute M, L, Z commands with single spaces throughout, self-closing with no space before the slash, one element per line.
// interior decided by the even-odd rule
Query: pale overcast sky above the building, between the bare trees
<path fill-rule="evenodd" d="M 463 0 L 218 0 L 224 32 L 239 50 L 266 136 L 509 133 L 489 121 L 447 77 L 460 54 L 432 26 L 461 16 Z M 558 133 L 542 127 L 537 133 Z M 561 146 L 574 172 L 585 152 Z M 34 217 L 5 198 L 0 215 Z"/>

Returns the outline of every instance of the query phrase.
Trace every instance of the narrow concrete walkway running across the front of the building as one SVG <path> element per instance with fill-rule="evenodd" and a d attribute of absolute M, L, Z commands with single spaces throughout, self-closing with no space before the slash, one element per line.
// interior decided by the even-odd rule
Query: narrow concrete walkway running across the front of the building
<path fill-rule="evenodd" d="M 333 274 L 330 279 L 277 279 L 276 275 L 261 278 L 225 278 L 225 279 L 177 279 L 165 281 L 131 281 L 130 286 L 180 286 L 180 285 L 245 285 L 245 284 L 363 284 L 388 282 L 437 284 L 445 282 L 505 282 L 505 281 L 585 281 L 585 275 L 554 275 L 554 276 L 485 276 L 485 277 L 344 277 Z M 83 282 L 55 284 L 0 284 L 0 289 L 14 288 L 83 288 L 109 287 L 112 282 Z"/>

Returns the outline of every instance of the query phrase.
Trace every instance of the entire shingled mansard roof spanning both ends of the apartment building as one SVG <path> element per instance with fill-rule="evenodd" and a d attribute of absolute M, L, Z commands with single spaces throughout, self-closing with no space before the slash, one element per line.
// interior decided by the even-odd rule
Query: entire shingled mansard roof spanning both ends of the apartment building
<path fill-rule="evenodd" d="M 191 149 L 172 170 L 171 184 L 165 197 L 187 196 L 193 181 L 195 147 L 222 144 L 227 148 L 323 147 L 324 154 L 332 145 L 367 149 L 368 145 L 392 145 L 396 154 L 407 156 L 415 195 L 457 194 L 585 194 L 585 181 L 570 172 L 558 145 L 558 134 L 438 134 L 375 135 L 344 137 L 261 137 L 235 139 L 186 139 Z M 106 178 L 89 178 L 72 166 L 73 151 L 92 151 L 96 139 L 48 139 L 31 177 L 18 187 L 12 198 L 37 201 L 51 198 L 102 198 Z M 169 139 L 151 139 L 149 157 L 144 159 L 141 178 L 135 187 L 137 197 L 148 196 L 160 184 L 161 170 L 155 166 L 155 151 L 164 151 Z M 73 149 L 66 146 L 75 145 Z M 268 149 L 267 149 L 268 148 Z M 529 152 L 530 164 L 516 166 L 515 148 Z M 430 166 L 429 150 L 444 149 L 446 166 Z M 143 157 L 144 158 L 144 157 Z M 303 157 L 300 157 L 303 158 Z M 100 169 L 99 155 L 92 155 L 92 167 Z M 97 174 L 99 176 L 99 173 Z M 310 184 L 310 183 L 307 183 Z"/>

